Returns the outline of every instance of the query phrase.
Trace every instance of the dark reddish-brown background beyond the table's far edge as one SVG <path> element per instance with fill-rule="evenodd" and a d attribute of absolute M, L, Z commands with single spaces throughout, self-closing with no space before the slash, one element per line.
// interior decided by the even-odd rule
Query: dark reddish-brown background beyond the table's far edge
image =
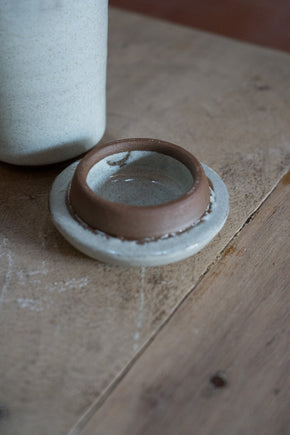
<path fill-rule="evenodd" d="M 109 3 L 175 23 L 290 51 L 290 0 L 109 0 Z"/>

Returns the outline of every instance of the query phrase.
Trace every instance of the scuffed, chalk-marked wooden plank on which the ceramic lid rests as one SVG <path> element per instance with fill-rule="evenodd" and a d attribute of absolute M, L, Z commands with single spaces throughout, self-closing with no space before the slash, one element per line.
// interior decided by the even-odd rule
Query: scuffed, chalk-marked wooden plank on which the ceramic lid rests
<path fill-rule="evenodd" d="M 1 433 L 63 434 L 155 334 L 289 164 L 286 54 L 111 10 L 104 141 L 155 137 L 211 166 L 230 216 L 200 254 L 112 267 L 74 250 L 48 194 L 66 164 L 1 164 Z"/>

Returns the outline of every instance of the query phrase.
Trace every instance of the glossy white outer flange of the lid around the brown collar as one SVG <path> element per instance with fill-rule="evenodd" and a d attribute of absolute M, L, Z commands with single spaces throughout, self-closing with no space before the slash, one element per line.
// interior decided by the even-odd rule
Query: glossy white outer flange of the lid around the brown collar
<path fill-rule="evenodd" d="M 212 183 L 210 208 L 201 221 L 187 231 L 158 240 L 120 240 L 90 229 L 74 219 L 67 207 L 67 192 L 78 162 L 68 166 L 54 181 L 50 193 L 53 222 L 76 249 L 97 260 L 130 266 L 159 266 L 190 257 L 207 245 L 223 227 L 229 211 L 229 195 L 221 178 L 208 166 L 203 168 Z"/>

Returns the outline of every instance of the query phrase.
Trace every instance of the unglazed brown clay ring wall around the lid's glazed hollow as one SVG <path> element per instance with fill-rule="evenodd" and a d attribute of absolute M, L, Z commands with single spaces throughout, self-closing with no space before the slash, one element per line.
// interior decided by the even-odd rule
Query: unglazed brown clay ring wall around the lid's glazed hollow
<path fill-rule="evenodd" d="M 121 152 L 153 151 L 183 163 L 193 177 L 192 187 L 172 201 L 157 205 L 126 205 L 96 194 L 87 183 L 90 169 Z M 89 227 L 127 240 L 158 238 L 183 231 L 197 223 L 210 202 L 207 177 L 200 162 L 185 149 L 158 139 L 121 139 L 94 147 L 78 164 L 72 178 L 69 203 Z"/>

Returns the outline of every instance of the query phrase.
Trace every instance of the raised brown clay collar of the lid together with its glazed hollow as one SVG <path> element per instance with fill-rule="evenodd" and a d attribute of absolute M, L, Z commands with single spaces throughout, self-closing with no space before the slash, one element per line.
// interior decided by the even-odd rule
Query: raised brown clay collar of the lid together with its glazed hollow
<path fill-rule="evenodd" d="M 70 207 L 89 227 L 141 240 L 183 231 L 205 213 L 208 179 L 185 149 L 157 139 L 96 146 L 78 164 Z"/>

